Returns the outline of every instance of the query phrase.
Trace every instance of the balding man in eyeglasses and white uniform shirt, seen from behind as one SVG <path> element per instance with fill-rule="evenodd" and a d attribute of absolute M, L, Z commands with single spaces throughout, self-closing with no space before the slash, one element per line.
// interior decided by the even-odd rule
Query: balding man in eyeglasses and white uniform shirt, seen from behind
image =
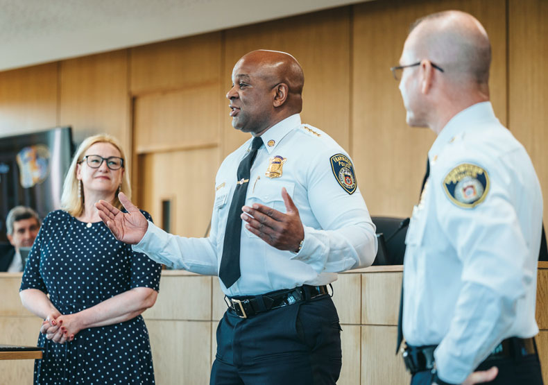
<path fill-rule="evenodd" d="M 542 384 L 542 194 L 493 113 L 490 60 L 477 19 L 447 11 L 412 26 L 392 68 L 409 126 L 438 135 L 406 237 L 400 330 L 411 384 Z"/>

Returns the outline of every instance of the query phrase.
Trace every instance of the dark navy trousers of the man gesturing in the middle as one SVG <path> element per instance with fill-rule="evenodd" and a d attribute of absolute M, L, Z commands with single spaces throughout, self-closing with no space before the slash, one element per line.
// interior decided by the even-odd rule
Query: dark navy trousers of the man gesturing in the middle
<path fill-rule="evenodd" d="M 250 318 L 228 310 L 209 384 L 336 384 L 341 364 L 341 326 L 329 296 Z"/>

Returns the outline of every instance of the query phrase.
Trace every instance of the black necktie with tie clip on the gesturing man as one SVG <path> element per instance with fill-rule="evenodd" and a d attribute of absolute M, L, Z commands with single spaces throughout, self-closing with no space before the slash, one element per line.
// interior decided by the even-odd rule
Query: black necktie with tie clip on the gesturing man
<path fill-rule="evenodd" d="M 255 160 L 257 150 L 262 144 L 263 139 L 261 139 L 261 137 L 254 137 L 251 142 L 251 150 L 248 155 L 241 160 L 240 165 L 238 166 L 238 182 L 234 189 L 234 195 L 232 195 L 230 209 L 228 210 L 225 241 L 223 243 L 223 256 L 221 257 L 221 267 L 219 268 L 219 277 L 227 289 L 232 286 L 241 275 L 241 207 L 246 203 L 251 165 Z"/>

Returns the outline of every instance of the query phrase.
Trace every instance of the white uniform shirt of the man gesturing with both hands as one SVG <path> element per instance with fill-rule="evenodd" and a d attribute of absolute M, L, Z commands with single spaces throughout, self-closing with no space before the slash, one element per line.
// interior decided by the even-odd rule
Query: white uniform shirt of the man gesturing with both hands
<path fill-rule="evenodd" d="M 336 280 L 338 272 L 373 263 L 377 253 L 375 225 L 359 189 L 352 185 L 356 183 L 352 166 L 343 173 L 340 166 L 332 165 L 336 162 L 331 160 L 333 155 L 348 157 L 343 148 L 325 132 L 301 125 L 298 114 L 266 130 L 262 139 L 264 145 L 251 167 L 246 205 L 262 203 L 286 212 L 282 199 L 285 187 L 299 210 L 305 241 L 298 254 L 277 250 L 242 223 L 241 277 L 230 289 L 219 280 L 223 292 L 228 296 L 247 296 L 302 284 L 328 284 Z M 174 236 L 149 222 L 144 238 L 134 249 L 173 268 L 218 275 L 237 169 L 250 145 L 251 139 L 228 155 L 217 172 L 208 238 Z M 269 178 L 265 174 L 275 156 L 285 158 L 282 175 Z M 345 178 L 346 188 L 352 194 L 343 188 Z"/>

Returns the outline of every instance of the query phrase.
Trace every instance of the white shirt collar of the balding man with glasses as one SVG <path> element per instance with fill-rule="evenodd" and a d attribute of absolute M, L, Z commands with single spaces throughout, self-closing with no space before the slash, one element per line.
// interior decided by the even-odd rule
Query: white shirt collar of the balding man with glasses
<path fill-rule="evenodd" d="M 459 135 L 470 128 L 471 122 L 475 124 L 480 121 L 490 121 L 493 119 L 497 120 L 497 117 L 495 117 L 493 105 L 491 105 L 490 101 L 476 103 L 456 114 L 440 131 L 434 144 L 432 144 L 430 151 L 428 151 L 430 164 L 433 164 L 436 161 L 436 155 L 442 151 L 447 143 L 452 142 L 452 139 L 454 139 L 456 135 Z"/>

